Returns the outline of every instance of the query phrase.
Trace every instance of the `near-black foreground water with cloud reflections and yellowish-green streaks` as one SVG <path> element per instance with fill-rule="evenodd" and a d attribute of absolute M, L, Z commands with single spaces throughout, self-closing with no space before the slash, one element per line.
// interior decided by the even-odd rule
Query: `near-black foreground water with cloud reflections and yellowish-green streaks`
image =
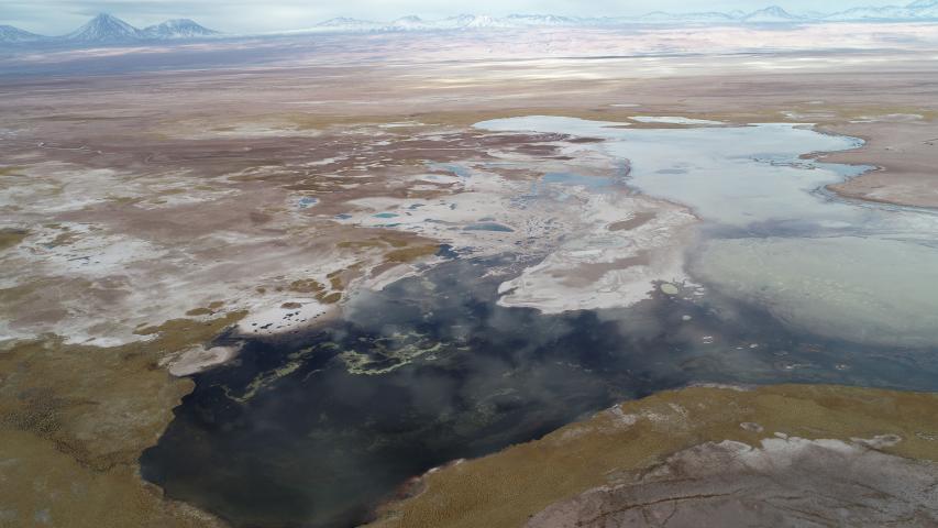
<path fill-rule="evenodd" d="M 659 295 L 560 316 L 500 308 L 500 277 L 481 278 L 490 264 L 454 260 L 362 294 L 316 333 L 250 342 L 236 363 L 196 376 L 144 453 L 144 477 L 236 526 L 346 527 L 432 466 L 670 387 L 938 389 L 934 351 L 796 334 L 715 294 L 707 307 Z"/>

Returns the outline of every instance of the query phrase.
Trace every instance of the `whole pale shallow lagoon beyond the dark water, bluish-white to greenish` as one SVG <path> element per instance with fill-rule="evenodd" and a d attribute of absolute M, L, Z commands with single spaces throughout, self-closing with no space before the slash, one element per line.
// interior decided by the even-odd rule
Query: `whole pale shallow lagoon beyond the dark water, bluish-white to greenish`
<path fill-rule="evenodd" d="M 938 215 L 838 200 L 824 186 L 868 166 L 804 155 L 862 141 L 806 125 L 640 129 L 570 118 L 486 121 L 487 130 L 603 138 L 631 163 L 629 185 L 702 219 L 691 272 L 804 330 L 938 348 Z"/>

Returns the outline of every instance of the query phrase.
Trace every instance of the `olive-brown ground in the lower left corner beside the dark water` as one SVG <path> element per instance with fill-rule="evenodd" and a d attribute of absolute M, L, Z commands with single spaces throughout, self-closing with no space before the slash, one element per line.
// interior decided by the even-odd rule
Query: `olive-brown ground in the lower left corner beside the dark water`
<path fill-rule="evenodd" d="M 166 501 L 137 474 L 170 409 L 192 388 L 161 359 L 211 340 L 241 314 L 141 330 L 152 341 L 120 348 L 63 344 L 57 338 L 0 349 L 0 486 L 14 526 L 222 526 Z M 119 506 L 115 506 L 119 505 Z"/>

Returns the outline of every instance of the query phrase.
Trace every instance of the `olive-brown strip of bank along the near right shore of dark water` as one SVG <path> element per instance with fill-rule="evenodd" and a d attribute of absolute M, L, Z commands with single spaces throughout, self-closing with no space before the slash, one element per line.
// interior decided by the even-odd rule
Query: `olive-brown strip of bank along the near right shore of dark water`
<path fill-rule="evenodd" d="M 725 440 L 758 447 L 775 432 L 848 442 L 895 435 L 902 440 L 882 452 L 936 462 L 936 409 L 935 394 L 832 386 L 660 393 L 540 440 L 430 472 L 415 496 L 387 505 L 368 526 L 522 526 L 587 490 L 634 482 L 678 451 Z"/>

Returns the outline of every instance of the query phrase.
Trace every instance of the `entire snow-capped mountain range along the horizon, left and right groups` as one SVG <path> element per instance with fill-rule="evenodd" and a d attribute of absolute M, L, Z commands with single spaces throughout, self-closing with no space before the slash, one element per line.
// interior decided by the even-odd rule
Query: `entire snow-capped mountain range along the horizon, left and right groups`
<path fill-rule="evenodd" d="M 911 22 L 938 21 L 938 0 L 916 0 L 907 6 L 885 6 L 853 8 L 835 13 L 793 14 L 779 6 L 771 6 L 752 12 L 706 11 L 694 13 L 666 13 L 655 11 L 642 16 L 561 16 L 554 14 L 510 14 L 489 16 L 461 14 L 442 20 L 423 20 L 419 16 L 404 16 L 391 22 L 376 22 L 351 18 L 338 18 L 321 22 L 305 30 L 282 32 L 279 34 L 325 33 L 325 32 L 405 32 L 405 31 L 453 31 L 472 29 L 510 28 L 577 28 L 616 26 L 630 24 L 784 24 L 823 22 Z M 62 36 L 43 36 L 35 33 L 0 25 L 0 44 L 30 45 L 108 45 L 133 44 L 162 41 L 197 40 L 220 36 L 188 19 L 167 20 L 161 24 L 136 29 L 126 22 L 110 15 L 99 14 L 81 28 Z M 234 36 L 234 35 L 230 35 Z"/>

